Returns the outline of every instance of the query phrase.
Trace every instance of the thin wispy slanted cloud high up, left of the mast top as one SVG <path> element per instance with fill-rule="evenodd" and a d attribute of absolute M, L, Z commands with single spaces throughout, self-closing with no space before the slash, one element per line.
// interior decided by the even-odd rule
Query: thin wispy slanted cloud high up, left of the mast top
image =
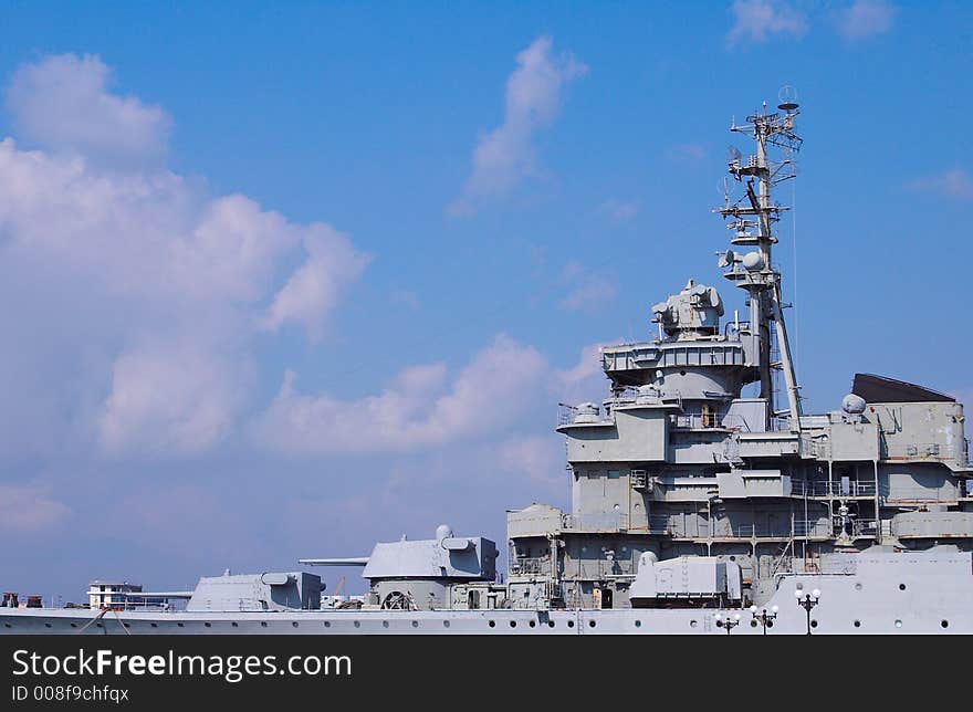
<path fill-rule="evenodd" d="M 503 196 L 535 172 L 534 135 L 554 122 L 564 86 L 587 72 L 571 54 L 554 55 L 548 36 L 534 40 L 516 62 L 506 81 L 503 124 L 473 149 L 472 174 L 449 207 L 453 214 L 473 211 L 484 199 Z"/>

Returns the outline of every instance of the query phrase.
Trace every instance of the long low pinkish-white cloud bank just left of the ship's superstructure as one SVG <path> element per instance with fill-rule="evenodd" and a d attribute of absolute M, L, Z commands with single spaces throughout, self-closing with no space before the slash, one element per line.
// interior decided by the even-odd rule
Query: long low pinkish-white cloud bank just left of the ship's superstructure
<path fill-rule="evenodd" d="M 547 363 L 536 349 L 498 335 L 451 381 L 443 364 L 405 369 L 375 396 L 341 400 L 294 389 L 289 373 L 255 438 L 285 454 L 406 451 L 509 428 L 536 397 Z"/>

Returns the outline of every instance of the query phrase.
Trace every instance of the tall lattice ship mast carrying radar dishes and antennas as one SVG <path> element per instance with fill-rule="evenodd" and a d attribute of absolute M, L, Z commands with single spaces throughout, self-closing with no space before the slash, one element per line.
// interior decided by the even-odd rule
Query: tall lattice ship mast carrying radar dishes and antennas
<path fill-rule="evenodd" d="M 797 432 L 801 429 L 801 397 L 784 323 L 781 273 L 772 259 L 772 248 L 777 242 L 773 228 L 788 208 L 771 200 L 771 188 L 796 175 L 793 157 L 801 149 L 802 138 L 794 133 L 794 119 L 801 111 L 789 98 L 784 98 L 777 108 L 782 113 L 768 114 L 764 102 L 760 112 L 747 116 L 742 126 L 737 126 L 735 119 L 730 126 L 731 132 L 753 138 L 756 153 L 743 163 L 740 151 L 731 149 L 729 171 L 737 182 L 745 184 L 745 196 L 731 202 L 726 190 L 724 205 L 716 212 L 724 219 L 731 218 L 728 228 L 735 232 L 732 244 L 756 248 L 745 255 L 730 250 L 721 265 L 730 268 L 725 276 L 746 290 L 750 296 L 750 328 L 760 342 L 760 395 L 767 401 L 767 428 L 774 418 L 786 415 L 791 430 Z M 772 159 L 768 147 L 781 149 L 781 157 Z M 781 352 L 780 362 L 771 360 L 772 329 Z M 774 402 L 775 369 L 783 371 L 787 388 L 788 407 L 784 410 L 777 410 Z"/>

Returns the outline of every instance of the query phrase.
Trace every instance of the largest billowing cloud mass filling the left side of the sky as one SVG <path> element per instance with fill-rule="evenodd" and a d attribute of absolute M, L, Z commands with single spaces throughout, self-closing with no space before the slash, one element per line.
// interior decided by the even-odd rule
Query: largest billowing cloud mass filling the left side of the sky
<path fill-rule="evenodd" d="M 165 138 L 160 112 L 107 93 L 108 74 L 64 55 L 14 75 L 8 103 L 44 148 L 0 140 L 0 314 L 29 335 L 18 379 L 50 388 L 85 363 L 79 400 L 98 405 L 49 412 L 73 407 L 69 420 L 112 453 L 197 453 L 233 430 L 255 335 L 294 323 L 318 337 L 368 258 L 329 226 L 245 196 L 106 166 Z M 76 108 L 71 127 L 35 117 L 41 88 L 50 106 Z M 59 332 L 75 338 L 43 336 Z M 0 422 L 19 408 L 0 404 Z"/>

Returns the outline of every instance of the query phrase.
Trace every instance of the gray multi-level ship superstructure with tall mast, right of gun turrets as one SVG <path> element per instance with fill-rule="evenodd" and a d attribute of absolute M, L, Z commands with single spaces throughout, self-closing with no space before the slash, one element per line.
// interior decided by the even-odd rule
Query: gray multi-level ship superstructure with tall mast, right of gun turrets
<path fill-rule="evenodd" d="M 512 589 L 543 585 L 554 605 L 628 606 L 645 554 L 689 556 L 712 572 L 739 567 L 740 586 L 684 590 L 674 582 L 635 605 L 760 604 L 775 576 L 823 572 L 835 554 L 946 542 L 970 551 L 971 472 L 952 397 L 857 375 L 840 408 L 802 412 L 773 260 L 786 208 L 772 198 L 794 177 L 798 113 L 793 102 L 771 113 L 764 104 L 731 126 L 753 138 L 755 153 L 730 154 L 743 197 L 731 201 L 728 191 L 716 210 L 732 231 L 719 266 L 745 292 L 746 317 L 721 324 L 719 292 L 691 279 L 652 307 L 655 338 L 601 348 L 608 397 L 565 407 L 557 428 L 567 438 L 572 511 L 508 514 Z M 750 384 L 756 394 L 744 397 Z"/>

